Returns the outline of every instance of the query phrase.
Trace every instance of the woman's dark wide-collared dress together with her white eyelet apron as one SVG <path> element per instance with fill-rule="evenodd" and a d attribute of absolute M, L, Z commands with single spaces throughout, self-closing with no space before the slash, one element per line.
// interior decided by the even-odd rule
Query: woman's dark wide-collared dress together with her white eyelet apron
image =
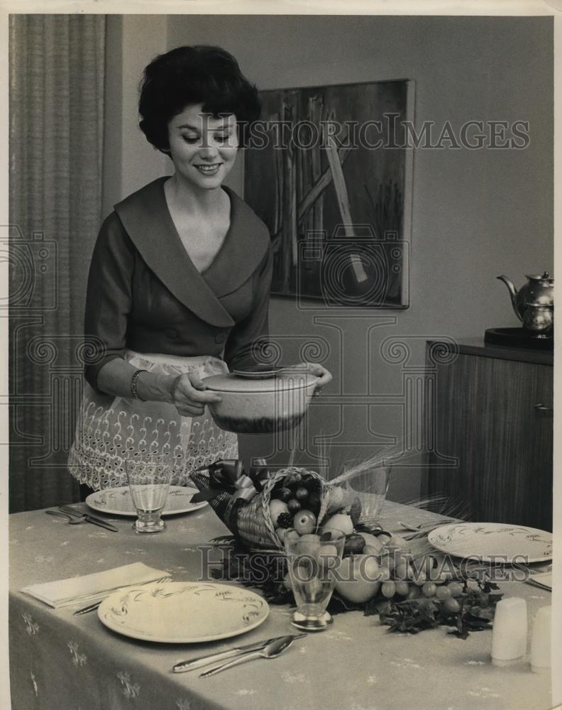
<path fill-rule="evenodd" d="M 180 417 L 173 405 L 100 392 L 96 379 L 104 364 L 123 358 L 138 368 L 206 376 L 227 366 L 253 366 L 259 361 L 255 346 L 267 342 L 267 227 L 224 188 L 231 226 L 214 261 L 199 273 L 167 209 L 165 180 L 116 204 L 92 255 L 84 324 L 87 384 L 69 458 L 72 475 L 92 488 L 126 484 L 124 460 L 138 453 L 141 439 L 177 452 L 175 484 L 187 483 L 197 466 L 237 453 L 236 437 L 217 430 L 207 412 Z"/>

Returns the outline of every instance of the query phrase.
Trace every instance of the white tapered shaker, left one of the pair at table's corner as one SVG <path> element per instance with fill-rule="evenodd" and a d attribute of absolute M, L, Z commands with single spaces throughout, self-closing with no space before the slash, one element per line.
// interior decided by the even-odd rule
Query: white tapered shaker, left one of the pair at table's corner
<path fill-rule="evenodd" d="M 512 665 L 527 652 L 527 602 L 517 596 L 498 601 L 492 627 L 492 663 Z"/>

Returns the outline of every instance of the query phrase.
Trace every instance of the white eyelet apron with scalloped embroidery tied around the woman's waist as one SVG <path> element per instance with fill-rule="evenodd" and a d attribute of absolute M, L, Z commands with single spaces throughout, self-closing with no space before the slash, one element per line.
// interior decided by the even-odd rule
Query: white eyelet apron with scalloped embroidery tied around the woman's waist
<path fill-rule="evenodd" d="M 126 351 L 126 361 L 149 372 L 200 378 L 228 372 L 213 356 L 177 357 Z M 148 451 L 172 454 L 172 485 L 191 483 L 189 473 L 216 459 L 237 459 L 236 434 L 219 429 L 205 408 L 200 417 L 182 417 L 172 404 L 141 402 L 97 393 L 84 383 L 82 407 L 70 449 L 68 467 L 81 484 L 95 491 L 126 486 L 125 461 Z"/>

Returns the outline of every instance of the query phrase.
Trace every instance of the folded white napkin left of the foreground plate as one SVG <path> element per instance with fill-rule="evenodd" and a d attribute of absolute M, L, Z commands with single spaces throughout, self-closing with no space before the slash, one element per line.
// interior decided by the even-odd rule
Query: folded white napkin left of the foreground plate
<path fill-rule="evenodd" d="M 33 596 L 55 609 L 71 604 L 87 604 L 101 601 L 112 591 L 131 584 L 144 584 L 155 579 L 166 577 L 162 569 L 148 567 L 143 562 L 125 564 L 123 567 L 106 569 L 104 572 L 84 574 L 83 577 L 57 579 L 44 584 L 32 584 L 24 587 L 23 594 Z"/>

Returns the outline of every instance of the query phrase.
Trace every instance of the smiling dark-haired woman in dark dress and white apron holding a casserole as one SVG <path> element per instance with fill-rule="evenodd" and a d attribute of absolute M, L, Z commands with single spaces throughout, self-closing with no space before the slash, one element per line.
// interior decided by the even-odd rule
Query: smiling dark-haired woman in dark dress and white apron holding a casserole
<path fill-rule="evenodd" d="M 270 236 L 222 185 L 259 110 L 220 48 L 180 47 L 145 69 L 140 128 L 175 172 L 116 204 L 94 248 L 87 384 L 69 459 L 82 484 L 126 485 L 124 461 L 146 450 L 175 457 L 173 484 L 238 455 L 236 436 L 205 410 L 220 397 L 202 379 L 251 369 L 267 347 Z M 309 371 L 318 389 L 331 380 L 322 366 Z"/>

